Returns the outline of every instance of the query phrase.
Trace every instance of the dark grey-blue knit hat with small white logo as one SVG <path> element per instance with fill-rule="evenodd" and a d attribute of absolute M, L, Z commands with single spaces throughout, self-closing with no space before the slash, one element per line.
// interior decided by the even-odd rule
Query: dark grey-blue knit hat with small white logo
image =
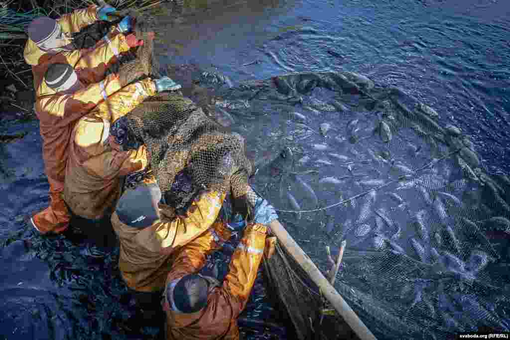
<path fill-rule="evenodd" d="M 146 228 L 159 219 L 160 199 L 161 191 L 155 183 L 126 189 L 117 203 L 115 212 L 120 222 L 134 228 Z"/>

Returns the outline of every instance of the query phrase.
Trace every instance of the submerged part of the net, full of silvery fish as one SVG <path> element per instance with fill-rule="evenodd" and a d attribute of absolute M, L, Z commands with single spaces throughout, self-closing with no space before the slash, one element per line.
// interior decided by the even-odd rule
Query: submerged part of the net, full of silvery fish
<path fill-rule="evenodd" d="M 469 136 L 442 126 L 439 105 L 354 72 L 290 73 L 236 91 L 217 94 L 224 108 L 264 112 L 233 126 L 257 126 L 247 136 L 260 171 L 251 184 L 324 271 L 324 246 L 347 241 L 336 286 L 363 292 L 346 299 L 378 338 L 510 330 L 501 300 L 510 277 L 498 274 L 510 263 L 510 180 L 483 168 Z"/>

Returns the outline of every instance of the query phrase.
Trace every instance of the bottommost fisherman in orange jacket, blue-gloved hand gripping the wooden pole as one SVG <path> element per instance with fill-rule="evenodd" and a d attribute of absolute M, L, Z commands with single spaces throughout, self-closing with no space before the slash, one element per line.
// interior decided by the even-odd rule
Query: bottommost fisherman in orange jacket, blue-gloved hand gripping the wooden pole
<path fill-rule="evenodd" d="M 162 302 L 167 339 L 239 339 L 237 318 L 246 306 L 262 256 L 270 256 L 275 242 L 274 237 L 266 240 L 267 224 L 277 219 L 274 207 L 259 198 L 253 215 L 222 283 L 198 273 L 206 255 L 220 246 L 213 234 L 202 234 L 175 251 Z"/>

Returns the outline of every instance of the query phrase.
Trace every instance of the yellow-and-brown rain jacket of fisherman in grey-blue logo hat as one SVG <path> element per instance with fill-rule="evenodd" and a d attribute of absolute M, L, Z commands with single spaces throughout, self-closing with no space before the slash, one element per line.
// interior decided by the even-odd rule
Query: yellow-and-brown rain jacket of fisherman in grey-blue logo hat
<path fill-rule="evenodd" d="M 175 249 L 201 234 L 213 241 L 214 236 L 228 240 L 230 230 L 218 217 L 224 199 L 225 194 L 205 192 L 191 203 L 185 216 L 175 216 L 169 206 L 160 203 L 160 219 L 143 229 L 122 223 L 113 213 L 112 226 L 120 240 L 119 269 L 127 286 L 139 292 L 159 292 L 164 289 Z"/>

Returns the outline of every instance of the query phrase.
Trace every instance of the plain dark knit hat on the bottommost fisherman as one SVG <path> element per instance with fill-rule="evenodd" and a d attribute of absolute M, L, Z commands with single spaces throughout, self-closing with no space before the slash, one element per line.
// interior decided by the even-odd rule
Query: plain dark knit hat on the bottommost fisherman
<path fill-rule="evenodd" d="M 169 289 L 167 287 L 167 290 Z M 167 298 L 170 296 L 168 295 Z M 208 283 L 198 274 L 184 276 L 173 289 L 175 307 L 183 313 L 194 313 L 207 305 Z M 171 305 L 171 301 L 168 301 Z"/>

